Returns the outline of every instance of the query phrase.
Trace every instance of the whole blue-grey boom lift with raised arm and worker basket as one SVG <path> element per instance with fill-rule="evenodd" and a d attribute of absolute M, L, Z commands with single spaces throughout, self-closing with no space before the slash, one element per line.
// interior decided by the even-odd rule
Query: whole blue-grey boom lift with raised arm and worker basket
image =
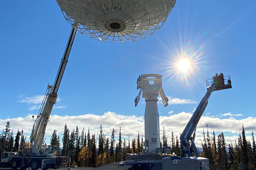
<path fill-rule="evenodd" d="M 180 135 L 181 157 L 170 156 L 163 158 L 163 170 L 210 170 L 209 159 L 200 157 L 196 148 L 194 142 L 195 132 L 212 92 L 232 88 L 231 77 L 225 76 L 224 78 L 222 75 L 216 75 L 212 79 L 206 80 L 207 92 Z"/>

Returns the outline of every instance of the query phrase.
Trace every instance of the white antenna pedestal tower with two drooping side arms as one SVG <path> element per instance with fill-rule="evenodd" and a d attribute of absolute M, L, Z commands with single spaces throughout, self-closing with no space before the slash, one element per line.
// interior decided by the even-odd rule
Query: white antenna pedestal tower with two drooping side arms
<path fill-rule="evenodd" d="M 154 81 L 150 84 L 149 81 Z M 160 93 L 164 107 L 168 106 L 168 98 L 162 88 L 161 74 L 141 74 L 137 78 L 137 89 L 140 89 L 138 96 L 134 100 L 135 107 L 138 105 L 140 95 L 145 98 L 146 109 L 145 121 L 145 153 L 155 154 L 156 148 L 160 148 L 159 113 L 157 107 L 158 95 Z M 157 150 L 157 153 L 161 152 Z"/>

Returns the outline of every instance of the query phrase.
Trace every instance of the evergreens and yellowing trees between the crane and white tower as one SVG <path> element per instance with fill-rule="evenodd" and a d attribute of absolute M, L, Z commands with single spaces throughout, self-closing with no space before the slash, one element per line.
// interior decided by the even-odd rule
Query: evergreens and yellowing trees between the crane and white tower
<path fill-rule="evenodd" d="M 51 137 L 51 144 L 55 146 L 59 145 L 60 142 L 58 138 L 56 130 L 54 130 Z M 52 142 L 53 139 L 56 143 Z M 127 153 L 137 154 L 142 152 L 143 135 L 140 138 L 140 133 L 138 132 L 137 138 L 134 137 L 130 144 L 130 138 L 128 139 L 128 143 L 125 138 L 122 140 L 121 127 L 119 128 L 119 139 L 116 142 L 114 128 L 112 129 L 111 137 L 106 138 L 106 135 L 103 133 L 102 125 L 100 125 L 100 131 L 96 136 L 95 133 L 90 135 L 89 128 L 87 134 L 84 128 L 80 134 L 78 127 L 70 132 L 65 124 L 62 143 L 63 148 L 61 155 L 71 157 L 73 165 L 97 167 L 113 162 L 124 161 Z"/>

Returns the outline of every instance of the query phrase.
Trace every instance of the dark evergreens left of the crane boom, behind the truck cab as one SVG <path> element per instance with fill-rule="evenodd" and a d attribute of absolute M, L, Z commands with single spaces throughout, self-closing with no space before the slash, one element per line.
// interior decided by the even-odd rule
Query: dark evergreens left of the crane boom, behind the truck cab
<path fill-rule="evenodd" d="M 5 125 L 5 129 L 3 129 L 0 134 L 0 155 L 4 151 L 13 152 L 21 151 L 22 148 L 28 148 L 30 146 L 30 142 L 26 141 L 26 137 L 24 136 L 23 129 L 20 131 L 18 129 L 15 139 L 13 136 L 13 130 L 10 129 L 11 123 L 8 121 Z"/>

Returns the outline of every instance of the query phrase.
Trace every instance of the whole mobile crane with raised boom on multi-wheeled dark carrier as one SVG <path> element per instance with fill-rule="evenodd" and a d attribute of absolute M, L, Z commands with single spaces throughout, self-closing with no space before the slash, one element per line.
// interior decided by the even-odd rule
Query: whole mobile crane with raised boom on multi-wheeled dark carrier
<path fill-rule="evenodd" d="M 48 84 L 47 86 L 47 90 L 41 108 L 36 117 L 30 135 L 30 148 L 24 148 L 21 152 L 15 155 L 10 153 L 8 156 L 8 161 L 10 162 L 10 166 L 12 169 L 17 169 L 19 167 L 21 170 L 24 170 L 30 166 L 32 170 L 37 170 L 38 168 L 41 167 L 41 164 L 42 170 L 47 170 L 48 168 L 55 169 L 60 167 L 62 164 L 67 163 L 68 161 L 68 157 L 54 156 L 54 146 L 43 146 L 43 140 L 53 105 L 57 102 L 57 92 L 68 62 L 68 57 L 75 39 L 77 29 L 78 24 L 74 23 L 66 45 L 65 52 L 60 62 L 60 66 L 54 84 Z M 34 119 L 34 116 L 32 117 Z"/>

